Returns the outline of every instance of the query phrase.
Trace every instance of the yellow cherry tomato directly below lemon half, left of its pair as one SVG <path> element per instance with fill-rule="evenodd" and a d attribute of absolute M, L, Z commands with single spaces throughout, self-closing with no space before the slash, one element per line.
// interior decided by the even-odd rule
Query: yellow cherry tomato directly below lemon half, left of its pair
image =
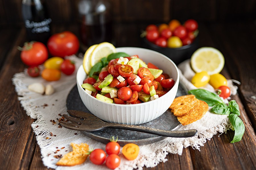
<path fill-rule="evenodd" d="M 196 73 L 191 79 L 191 83 L 196 87 L 205 86 L 210 80 L 210 76 L 206 71 Z"/>

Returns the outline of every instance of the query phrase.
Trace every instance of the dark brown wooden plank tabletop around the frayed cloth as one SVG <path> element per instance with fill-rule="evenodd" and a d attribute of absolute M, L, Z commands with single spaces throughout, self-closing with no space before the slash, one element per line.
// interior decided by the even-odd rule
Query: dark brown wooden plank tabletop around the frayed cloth
<path fill-rule="evenodd" d="M 141 47 L 139 30 L 147 24 L 115 24 L 116 47 Z M 77 25 L 55 25 L 53 33 L 70 30 L 79 35 Z M 199 47 L 212 46 L 225 57 L 221 72 L 241 82 L 231 96 L 240 107 L 245 133 L 240 142 L 230 143 L 234 131 L 214 135 L 199 150 L 184 148 L 181 156 L 168 154 L 168 161 L 143 169 L 256 169 L 256 26 L 251 23 L 199 23 Z M 21 107 L 11 78 L 26 67 L 17 46 L 26 41 L 23 27 L 0 27 L 0 169 L 47 169 L 31 128 L 34 119 Z"/>

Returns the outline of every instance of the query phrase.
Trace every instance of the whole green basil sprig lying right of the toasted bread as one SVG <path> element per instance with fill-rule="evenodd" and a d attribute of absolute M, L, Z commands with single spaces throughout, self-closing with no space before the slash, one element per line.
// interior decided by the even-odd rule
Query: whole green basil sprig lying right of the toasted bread
<path fill-rule="evenodd" d="M 240 110 L 235 100 L 228 102 L 227 106 L 217 94 L 204 89 L 190 90 L 188 94 L 193 94 L 197 99 L 205 101 L 209 106 L 213 106 L 210 112 L 228 115 L 228 119 L 235 131 L 234 138 L 230 143 L 241 141 L 245 128 L 243 121 L 238 117 L 240 116 Z"/>

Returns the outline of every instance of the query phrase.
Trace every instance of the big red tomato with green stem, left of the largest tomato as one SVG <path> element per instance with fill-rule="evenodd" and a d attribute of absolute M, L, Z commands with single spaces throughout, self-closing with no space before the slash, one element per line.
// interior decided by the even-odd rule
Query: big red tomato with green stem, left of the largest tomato
<path fill-rule="evenodd" d="M 21 50 L 20 59 L 28 66 L 40 65 L 48 58 L 48 50 L 42 42 L 25 42 Z"/>

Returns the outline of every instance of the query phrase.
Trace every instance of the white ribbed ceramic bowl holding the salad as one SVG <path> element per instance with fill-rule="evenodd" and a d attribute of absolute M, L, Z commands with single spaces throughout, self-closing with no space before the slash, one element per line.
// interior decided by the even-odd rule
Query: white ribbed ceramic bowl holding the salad
<path fill-rule="evenodd" d="M 125 52 L 129 55 L 139 55 L 146 63 L 153 63 L 170 75 L 175 80 L 174 87 L 162 97 L 153 101 L 134 105 L 120 105 L 105 103 L 84 91 L 82 82 L 86 78 L 86 73 L 81 65 L 77 71 L 77 88 L 79 95 L 87 107 L 98 118 L 111 123 L 136 125 L 149 122 L 161 116 L 172 104 L 178 89 L 179 71 L 174 62 L 161 53 L 153 50 L 137 47 L 116 48 L 117 52 Z"/>

